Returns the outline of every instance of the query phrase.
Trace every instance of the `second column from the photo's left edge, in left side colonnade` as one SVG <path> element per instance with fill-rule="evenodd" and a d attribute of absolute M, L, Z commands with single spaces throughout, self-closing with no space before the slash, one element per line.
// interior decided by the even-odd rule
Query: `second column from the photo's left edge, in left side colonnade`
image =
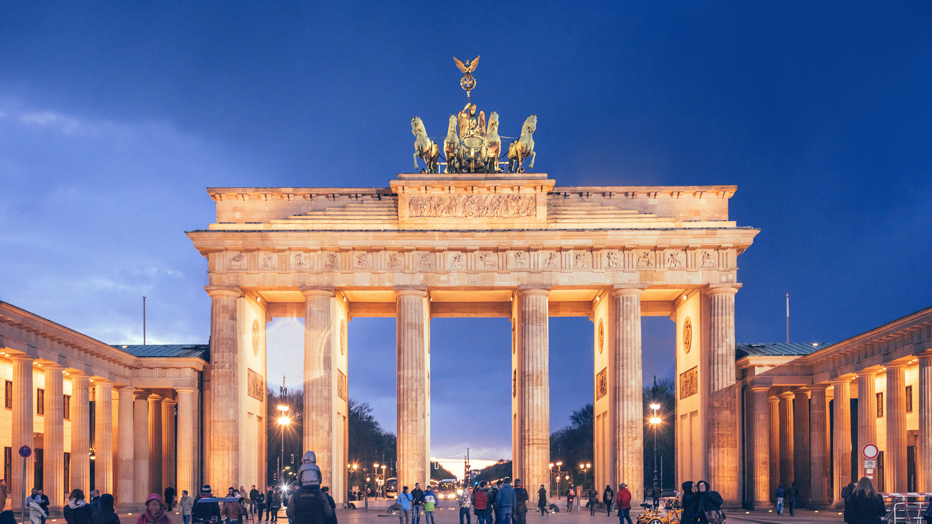
<path fill-rule="evenodd" d="M 46 406 L 42 435 L 42 490 L 48 501 L 64 500 L 64 376 L 57 364 L 43 366 L 46 370 Z"/>

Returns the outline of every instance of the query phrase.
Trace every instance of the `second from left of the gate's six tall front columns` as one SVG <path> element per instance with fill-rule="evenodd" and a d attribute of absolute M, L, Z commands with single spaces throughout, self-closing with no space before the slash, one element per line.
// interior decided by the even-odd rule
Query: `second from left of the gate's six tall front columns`
<path fill-rule="evenodd" d="M 323 482 L 332 484 L 336 363 L 332 289 L 302 288 L 304 295 L 304 448 L 317 454 Z M 339 461 L 339 462 L 342 462 Z"/>

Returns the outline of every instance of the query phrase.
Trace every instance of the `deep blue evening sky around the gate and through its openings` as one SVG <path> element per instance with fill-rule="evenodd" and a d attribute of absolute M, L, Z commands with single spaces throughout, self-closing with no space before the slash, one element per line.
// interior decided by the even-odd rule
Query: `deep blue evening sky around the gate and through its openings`
<path fill-rule="evenodd" d="M 837 341 L 932 298 L 928 2 L 5 2 L 0 299 L 110 343 L 206 342 L 206 186 L 387 186 L 464 96 L 539 115 L 558 185 L 735 184 L 737 338 Z M 394 321 L 349 328 L 393 430 Z M 551 425 L 591 400 L 592 326 L 551 325 Z M 673 324 L 644 320 L 645 376 Z M 269 324 L 270 381 L 300 368 Z M 432 452 L 511 454 L 506 319 L 432 322 Z M 289 370 L 289 371 L 286 371 Z M 299 383 L 288 375 L 289 385 Z M 476 413 L 473 397 L 484 398 Z"/>

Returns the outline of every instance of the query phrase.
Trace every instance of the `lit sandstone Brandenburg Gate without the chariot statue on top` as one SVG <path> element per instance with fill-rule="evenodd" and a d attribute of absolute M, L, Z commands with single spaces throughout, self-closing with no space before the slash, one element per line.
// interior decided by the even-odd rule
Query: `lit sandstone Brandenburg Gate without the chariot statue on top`
<path fill-rule="evenodd" d="M 272 318 L 304 318 L 304 448 L 342 501 L 347 353 L 364 351 L 347 324 L 397 319 L 398 477 L 413 487 L 430 477 L 431 319 L 508 317 L 514 476 L 547 484 L 548 319 L 583 316 L 595 333 L 596 485 L 625 482 L 639 499 L 640 317 L 658 315 L 676 322 L 678 478 L 707 478 L 737 503 L 737 257 L 759 230 L 729 220 L 735 186 L 569 187 L 520 169 L 464 171 L 402 173 L 381 188 L 208 190 L 216 222 L 188 232 L 212 303 L 205 480 L 222 490 L 265 477 Z"/>

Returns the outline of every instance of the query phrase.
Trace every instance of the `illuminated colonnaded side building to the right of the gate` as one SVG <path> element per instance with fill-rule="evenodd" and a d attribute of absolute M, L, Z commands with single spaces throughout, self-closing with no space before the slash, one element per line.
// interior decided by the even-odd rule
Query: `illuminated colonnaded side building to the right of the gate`
<path fill-rule="evenodd" d="M 746 505 L 796 482 L 801 505 L 840 506 L 872 476 L 888 493 L 932 492 L 932 308 L 836 344 L 739 344 Z M 866 471 L 861 449 L 880 449 Z"/>

